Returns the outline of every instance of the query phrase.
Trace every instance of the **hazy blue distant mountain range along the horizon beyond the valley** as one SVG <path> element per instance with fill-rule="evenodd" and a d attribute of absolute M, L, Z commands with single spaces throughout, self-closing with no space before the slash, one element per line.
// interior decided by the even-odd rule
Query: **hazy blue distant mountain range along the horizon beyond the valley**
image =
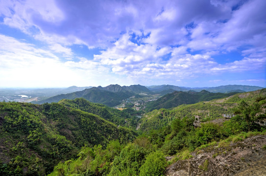
<path fill-rule="evenodd" d="M 71 89 L 71 88 L 75 88 L 75 87 L 70 87 L 68 89 Z M 219 87 L 204 88 L 204 89 L 206 89 L 208 93 L 211 93 L 211 92 L 216 92 L 216 93 L 228 92 L 229 93 L 229 92 L 253 91 L 253 90 L 262 89 L 262 88 L 256 87 L 256 86 L 227 85 L 227 86 L 219 86 Z M 75 98 L 85 98 L 86 100 L 93 102 L 93 103 L 102 103 L 109 107 L 114 107 L 116 105 L 121 104 L 122 100 L 128 99 L 136 95 L 139 96 L 140 93 L 160 94 L 161 96 L 167 95 L 167 97 L 161 98 L 157 102 L 149 103 L 148 109 L 153 110 L 153 109 L 158 109 L 158 108 L 163 108 L 163 107 L 171 108 L 174 106 L 178 106 L 180 104 L 191 104 L 191 103 L 196 103 L 196 102 L 203 101 L 203 100 L 210 100 L 212 98 L 222 98 L 224 96 L 227 96 L 223 94 L 208 94 L 207 93 L 208 95 L 204 95 L 205 98 L 202 98 L 203 97 L 202 94 L 204 94 L 203 92 L 198 93 L 198 94 L 193 93 L 193 92 L 200 92 L 202 90 L 203 88 L 184 88 L 184 87 L 178 87 L 178 86 L 172 86 L 172 85 L 145 87 L 141 85 L 120 86 L 116 84 L 116 85 L 109 85 L 106 87 L 99 86 L 97 88 L 96 87 L 86 88 L 81 91 L 75 91 L 75 92 L 67 93 L 67 94 L 59 94 L 59 95 L 55 95 L 52 97 L 42 99 L 35 103 L 43 104 L 43 103 L 59 102 L 62 99 L 73 100 Z M 182 92 L 173 93 L 174 91 L 182 91 Z M 188 92 L 188 93 L 185 93 L 185 92 Z M 177 94 L 179 97 L 176 97 Z M 199 98 L 199 95 L 201 98 Z M 185 99 L 181 100 L 180 98 L 182 96 L 185 96 Z M 167 101 L 162 102 L 163 99 L 167 99 Z"/>

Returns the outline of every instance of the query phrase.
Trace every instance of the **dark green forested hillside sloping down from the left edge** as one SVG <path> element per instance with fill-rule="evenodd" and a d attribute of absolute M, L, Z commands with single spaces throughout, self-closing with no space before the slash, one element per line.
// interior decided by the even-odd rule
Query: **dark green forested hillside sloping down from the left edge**
<path fill-rule="evenodd" d="M 0 103 L 0 175 L 49 174 L 59 161 L 76 158 L 82 146 L 105 148 L 111 140 L 132 141 L 135 134 L 57 103 Z"/>

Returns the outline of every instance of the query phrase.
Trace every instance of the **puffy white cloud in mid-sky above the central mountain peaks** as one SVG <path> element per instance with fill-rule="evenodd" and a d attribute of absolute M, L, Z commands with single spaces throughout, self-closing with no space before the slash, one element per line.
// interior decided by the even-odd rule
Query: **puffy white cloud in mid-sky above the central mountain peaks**
<path fill-rule="evenodd" d="M 163 55 L 171 52 L 170 47 L 157 48 L 151 44 L 134 44 L 130 35 L 124 34 L 114 46 L 94 55 L 94 60 L 111 66 L 116 73 L 130 74 L 141 70 L 146 64 L 157 63 Z"/>

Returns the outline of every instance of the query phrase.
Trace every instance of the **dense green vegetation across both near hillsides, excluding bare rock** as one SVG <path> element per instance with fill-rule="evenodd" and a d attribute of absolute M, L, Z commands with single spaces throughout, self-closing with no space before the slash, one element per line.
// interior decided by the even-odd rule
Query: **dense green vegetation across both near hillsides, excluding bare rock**
<path fill-rule="evenodd" d="M 263 89 L 153 110 L 137 122 L 135 137 L 133 131 L 109 122 L 134 121 L 131 110 L 117 111 L 84 99 L 43 105 L 1 103 L 0 174 L 44 175 L 53 169 L 50 176 L 161 176 L 167 165 L 191 157 L 195 149 L 266 132 L 259 124 L 266 120 L 265 108 Z M 224 119 L 223 113 L 235 116 Z M 201 116 L 201 128 L 194 128 L 194 115 Z M 219 119 L 223 121 L 216 122 Z M 166 162 L 167 155 L 175 157 Z"/>

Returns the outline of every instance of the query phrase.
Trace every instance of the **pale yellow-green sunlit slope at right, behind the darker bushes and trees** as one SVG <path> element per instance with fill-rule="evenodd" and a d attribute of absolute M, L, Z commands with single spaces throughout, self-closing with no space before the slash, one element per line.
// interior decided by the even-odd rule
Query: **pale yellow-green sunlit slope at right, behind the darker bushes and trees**
<path fill-rule="evenodd" d="M 224 94 L 218 93 L 218 95 L 220 94 L 224 96 Z M 235 111 L 234 108 L 242 100 L 251 106 L 255 106 L 258 102 L 260 103 L 260 106 L 262 106 L 266 103 L 264 101 L 265 96 L 266 89 L 262 89 L 253 92 L 238 93 L 223 99 L 203 101 L 190 105 L 183 104 L 172 109 L 153 110 L 146 113 L 139 121 L 141 124 L 140 129 L 144 131 L 160 129 L 161 127 L 170 124 L 172 120 L 176 118 L 187 118 L 192 122 L 195 115 L 201 116 L 202 122 L 222 118 L 223 114 L 233 114 Z"/>

